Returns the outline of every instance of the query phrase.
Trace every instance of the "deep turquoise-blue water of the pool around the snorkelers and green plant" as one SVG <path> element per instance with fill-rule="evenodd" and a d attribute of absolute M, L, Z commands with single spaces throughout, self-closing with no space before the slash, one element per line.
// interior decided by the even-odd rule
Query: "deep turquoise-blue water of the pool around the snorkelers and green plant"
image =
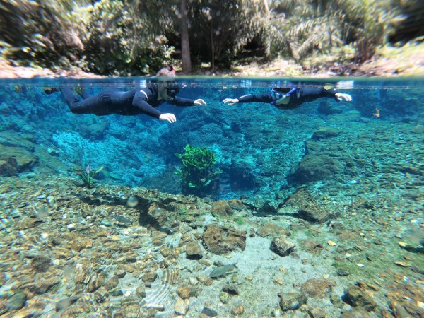
<path fill-rule="evenodd" d="M 357 123 L 350 129 L 366 132 L 376 125 L 384 130 L 399 122 L 422 124 L 424 81 L 420 78 L 297 79 L 301 86 L 338 83 L 340 91 L 351 94 L 353 101 L 337 103 L 321 98 L 296 110 L 254 103 L 229 107 L 221 102 L 246 93 L 264 93 L 278 81 L 293 81 L 290 78 L 179 78 L 185 86 L 179 96 L 203 98 L 208 105 L 161 105 L 158 109 L 162 112 L 177 115 L 175 124 L 145 115 L 72 114 L 60 93 L 46 95 L 41 89 L 66 82 L 90 86 L 92 93 L 98 93 L 108 87 L 131 88 L 139 80 L 144 78 L 3 80 L 1 131 L 32 134 L 41 148 L 54 153 L 54 159 L 63 163 L 61 167 L 51 167 L 57 173 L 69 173 L 74 165 L 105 167 L 102 175 L 98 175 L 102 182 L 153 187 L 163 192 L 179 192 L 172 169 L 181 161 L 174 153 L 182 153 L 187 143 L 211 148 L 218 155 L 216 167 L 223 170 L 220 197 L 228 199 L 278 192 L 287 183 L 290 168 L 305 154 L 305 141 L 319 126 L 344 129 L 346 123 Z M 381 114 L 379 118 L 374 115 L 376 109 Z M 392 137 L 399 138 L 397 134 Z M 373 155 L 376 154 L 369 154 L 370 160 Z M 35 165 L 30 170 L 41 172 L 43 167 Z M 345 177 L 355 179 L 361 173 Z"/>

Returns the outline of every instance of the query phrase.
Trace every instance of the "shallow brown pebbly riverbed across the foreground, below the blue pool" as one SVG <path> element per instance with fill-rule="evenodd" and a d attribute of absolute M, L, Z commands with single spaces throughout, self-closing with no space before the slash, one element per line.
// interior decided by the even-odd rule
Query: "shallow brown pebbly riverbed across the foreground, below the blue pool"
<path fill-rule="evenodd" d="M 299 189 L 264 210 L 86 189 L 69 177 L 3 177 L 0 312 L 423 317 L 422 198 L 368 194 L 342 203 Z M 236 267 L 210 277 L 226 264 Z"/>

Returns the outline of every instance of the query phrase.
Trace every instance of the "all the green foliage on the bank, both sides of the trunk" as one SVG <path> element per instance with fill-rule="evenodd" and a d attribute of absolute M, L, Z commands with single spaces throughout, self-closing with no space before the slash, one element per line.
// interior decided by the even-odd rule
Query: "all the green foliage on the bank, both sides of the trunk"
<path fill-rule="evenodd" d="M 267 57 L 305 61 L 348 45 L 358 62 L 402 22 L 405 0 L 187 1 L 194 64 L 231 66 L 250 42 Z M 0 57 L 14 64 L 105 75 L 155 73 L 175 62 L 180 45 L 177 0 L 0 0 Z M 405 16 L 405 15 L 404 15 Z"/>

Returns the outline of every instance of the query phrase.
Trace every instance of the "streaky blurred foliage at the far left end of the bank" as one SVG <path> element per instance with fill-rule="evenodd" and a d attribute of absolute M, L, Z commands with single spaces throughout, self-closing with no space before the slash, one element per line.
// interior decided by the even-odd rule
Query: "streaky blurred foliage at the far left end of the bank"
<path fill-rule="evenodd" d="M 67 13 L 86 1 L 0 0 L 1 56 L 16 64 L 69 66 L 83 51 L 78 21 Z"/>

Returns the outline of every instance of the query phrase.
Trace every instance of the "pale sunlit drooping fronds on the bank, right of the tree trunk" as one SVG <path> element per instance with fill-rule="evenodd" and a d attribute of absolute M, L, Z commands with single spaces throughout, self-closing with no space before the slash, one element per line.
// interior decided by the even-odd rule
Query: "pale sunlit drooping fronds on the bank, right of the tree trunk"
<path fill-rule="evenodd" d="M 354 43 L 355 60 L 370 59 L 401 20 L 393 0 L 271 1 L 263 16 L 266 54 L 302 60 Z M 342 53 L 342 52 L 341 52 Z"/>

